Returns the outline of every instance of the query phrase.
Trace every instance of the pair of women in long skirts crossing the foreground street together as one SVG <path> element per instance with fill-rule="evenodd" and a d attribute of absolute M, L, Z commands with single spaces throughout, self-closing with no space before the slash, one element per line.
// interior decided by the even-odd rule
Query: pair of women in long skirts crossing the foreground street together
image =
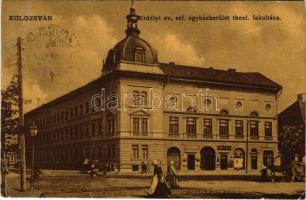
<path fill-rule="evenodd" d="M 152 179 L 152 184 L 149 189 L 149 197 L 152 198 L 166 198 L 171 194 L 172 188 L 179 187 L 179 181 L 177 178 L 177 173 L 174 165 L 174 161 L 170 162 L 167 169 L 166 178 L 163 175 L 161 163 L 157 160 L 152 162 L 154 166 L 154 175 Z"/>

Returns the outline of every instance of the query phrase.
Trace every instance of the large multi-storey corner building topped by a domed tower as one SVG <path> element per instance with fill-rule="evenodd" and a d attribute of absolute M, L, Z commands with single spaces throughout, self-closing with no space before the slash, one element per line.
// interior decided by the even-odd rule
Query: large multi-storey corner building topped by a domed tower
<path fill-rule="evenodd" d="M 280 85 L 258 72 L 160 63 L 139 35 L 131 8 L 101 77 L 25 115 L 39 127 L 39 168 L 77 169 L 89 158 L 137 172 L 156 159 L 184 172 L 249 173 L 273 162 Z"/>

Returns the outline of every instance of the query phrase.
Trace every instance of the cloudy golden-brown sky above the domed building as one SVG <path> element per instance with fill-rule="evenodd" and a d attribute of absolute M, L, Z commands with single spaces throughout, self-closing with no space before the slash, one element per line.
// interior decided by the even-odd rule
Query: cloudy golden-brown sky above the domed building
<path fill-rule="evenodd" d="M 2 2 L 2 76 L 7 87 L 17 71 L 22 37 L 25 111 L 101 75 L 103 59 L 125 37 L 130 1 Z M 140 37 L 160 62 L 260 72 L 282 85 L 279 111 L 305 93 L 303 2 L 134 1 L 142 16 L 248 15 L 241 21 L 139 21 Z M 9 16 L 52 16 L 51 21 L 12 21 Z M 254 21 L 253 15 L 279 16 Z M 57 40 L 54 40 L 57 38 Z"/>

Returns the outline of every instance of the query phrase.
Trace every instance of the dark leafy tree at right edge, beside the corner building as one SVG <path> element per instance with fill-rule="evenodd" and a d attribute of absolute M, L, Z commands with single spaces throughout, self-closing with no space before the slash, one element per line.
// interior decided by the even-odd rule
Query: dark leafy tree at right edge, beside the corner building
<path fill-rule="evenodd" d="M 305 156 L 305 127 L 303 124 L 285 125 L 279 134 L 279 151 L 284 167 L 294 160 L 295 155 Z"/>

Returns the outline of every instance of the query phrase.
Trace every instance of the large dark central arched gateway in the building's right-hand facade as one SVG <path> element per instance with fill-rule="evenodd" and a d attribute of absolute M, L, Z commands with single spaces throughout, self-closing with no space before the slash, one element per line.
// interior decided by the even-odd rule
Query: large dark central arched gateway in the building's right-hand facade
<path fill-rule="evenodd" d="M 215 150 L 211 147 L 204 147 L 201 150 L 201 169 L 214 170 L 216 163 Z"/>

